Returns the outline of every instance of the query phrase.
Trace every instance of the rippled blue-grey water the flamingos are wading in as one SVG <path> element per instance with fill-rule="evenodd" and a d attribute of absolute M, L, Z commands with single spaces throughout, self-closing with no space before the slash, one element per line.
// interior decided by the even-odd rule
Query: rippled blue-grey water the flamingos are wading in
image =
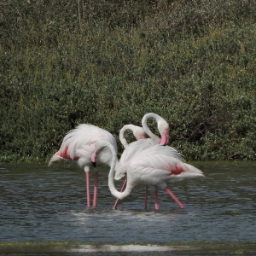
<path fill-rule="evenodd" d="M 143 187 L 112 210 L 115 199 L 108 190 L 108 167 L 100 172 L 97 208 L 86 209 L 84 172 L 78 166 L 2 164 L 0 241 L 256 241 L 256 163 L 192 164 L 206 177 L 170 187 L 187 209 L 160 191 L 159 212 L 154 211 L 153 188 L 148 210 L 143 209 Z"/>

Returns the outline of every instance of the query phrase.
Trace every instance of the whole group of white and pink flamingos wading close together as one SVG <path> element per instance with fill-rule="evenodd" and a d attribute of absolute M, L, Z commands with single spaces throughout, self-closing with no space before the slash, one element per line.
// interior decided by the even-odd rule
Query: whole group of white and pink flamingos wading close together
<path fill-rule="evenodd" d="M 161 137 L 154 135 L 148 128 L 148 118 L 157 122 Z M 167 187 L 168 184 L 193 177 L 204 177 L 201 170 L 190 166 L 182 160 L 177 149 L 167 146 L 169 143 L 169 125 L 156 113 L 143 116 L 143 127 L 125 125 L 119 132 L 119 140 L 125 150 L 118 160 L 117 142 L 113 135 L 95 125 L 78 125 L 63 138 L 61 148 L 51 157 L 49 165 L 58 160 L 74 160 L 84 168 L 87 192 L 87 207 L 90 207 L 90 167 L 95 168 L 95 185 L 92 207 L 96 207 L 98 190 L 98 173 L 100 166 L 110 166 L 108 187 L 119 200 L 131 194 L 137 185 L 145 185 L 145 209 L 147 208 L 148 185 L 154 186 L 154 208 L 159 210 L 158 189 L 165 189 L 179 207 L 185 208 L 181 201 Z M 128 144 L 125 131 L 131 130 L 137 141 Z M 146 137 L 146 134 L 149 138 Z M 115 189 L 114 180 L 125 177 L 120 191 Z"/>

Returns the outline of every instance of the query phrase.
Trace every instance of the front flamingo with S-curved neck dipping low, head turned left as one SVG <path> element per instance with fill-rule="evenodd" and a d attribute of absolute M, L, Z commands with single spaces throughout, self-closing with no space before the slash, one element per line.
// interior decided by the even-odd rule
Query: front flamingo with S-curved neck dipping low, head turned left
<path fill-rule="evenodd" d="M 132 189 L 137 185 L 152 185 L 155 189 L 165 189 L 177 201 L 180 207 L 183 208 L 183 204 L 176 197 L 173 197 L 168 184 L 195 177 L 204 177 L 201 170 L 179 159 L 176 155 L 177 152 L 173 151 L 173 148 L 154 145 L 153 147 L 144 149 L 129 160 L 126 169 L 126 187 L 123 192 L 119 192 L 115 189 L 113 183 L 114 168 L 117 160 L 116 150 L 106 141 L 98 141 L 96 143 L 96 153 L 101 152 L 104 148 L 109 148 L 112 152 L 111 167 L 108 174 L 108 187 L 112 195 L 120 200 L 131 195 Z M 94 160 L 93 157 L 91 160 Z M 159 210 L 158 201 L 155 203 L 155 210 Z"/>

